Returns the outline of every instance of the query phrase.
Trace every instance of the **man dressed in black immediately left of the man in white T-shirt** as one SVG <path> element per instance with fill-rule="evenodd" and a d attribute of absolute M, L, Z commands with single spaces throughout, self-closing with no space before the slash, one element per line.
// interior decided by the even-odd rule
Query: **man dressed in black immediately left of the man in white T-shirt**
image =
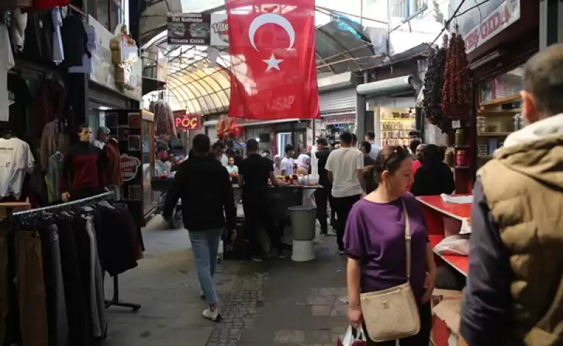
<path fill-rule="evenodd" d="M 332 184 L 329 180 L 329 175 L 324 166 L 327 164 L 327 159 L 331 149 L 329 148 L 329 141 L 327 138 L 317 139 L 317 152 L 315 156 L 317 157 L 317 163 L 319 164 L 319 184 L 322 189 L 317 189 L 315 191 L 315 202 L 317 203 L 317 219 L 321 225 L 321 234 L 329 234 L 329 226 L 327 225 L 327 202 L 330 202 L 331 206 L 331 226 L 335 225 L 335 215 L 334 208 L 332 207 Z"/>

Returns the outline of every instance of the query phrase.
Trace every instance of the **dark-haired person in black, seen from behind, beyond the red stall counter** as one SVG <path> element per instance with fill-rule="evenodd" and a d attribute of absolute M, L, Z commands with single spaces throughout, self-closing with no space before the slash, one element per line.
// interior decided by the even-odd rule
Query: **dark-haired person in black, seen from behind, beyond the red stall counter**
<path fill-rule="evenodd" d="M 443 162 L 440 147 L 429 144 L 424 147 L 422 166 L 415 173 L 415 182 L 410 192 L 415 196 L 434 196 L 451 194 L 455 189 L 453 173 Z"/>

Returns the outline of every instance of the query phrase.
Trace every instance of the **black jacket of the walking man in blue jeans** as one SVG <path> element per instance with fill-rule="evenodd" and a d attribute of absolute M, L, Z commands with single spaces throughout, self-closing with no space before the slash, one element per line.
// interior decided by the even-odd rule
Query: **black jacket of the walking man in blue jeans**
<path fill-rule="evenodd" d="M 236 208 L 227 169 L 211 156 L 191 155 L 179 165 L 167 192 L 163 215 L 169 218 L 182 198 L 184 227 L 206 231 L 236 225 Z"/>

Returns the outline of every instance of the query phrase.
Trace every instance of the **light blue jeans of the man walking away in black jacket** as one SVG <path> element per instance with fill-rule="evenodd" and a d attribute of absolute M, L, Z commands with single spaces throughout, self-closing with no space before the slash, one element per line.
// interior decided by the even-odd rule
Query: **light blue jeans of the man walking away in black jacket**
<path fill-rule="evenodd" d="M 191 250 L 194 251 L 199 284 L 209 305 L 215 305 L 219 302 L 217 292 L 215 291 L 215 284 L 213 284 L 213 274 L 215 274 L 217 252 L 222 232 L 222 229 L 188 231 Z"/>

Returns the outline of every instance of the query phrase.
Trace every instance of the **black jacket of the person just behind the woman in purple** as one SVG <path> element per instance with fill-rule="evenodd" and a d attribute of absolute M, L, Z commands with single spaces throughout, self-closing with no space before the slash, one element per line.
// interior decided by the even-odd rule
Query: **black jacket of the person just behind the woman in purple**
<path fill-rule="evenodd" d="M 455 189 L 453 173 L 447 164 L 422 164 L 415 173 L 415 182 L 410 192 L 415 196 L 435 196 L 438 194 L 451 194 Z"/>

